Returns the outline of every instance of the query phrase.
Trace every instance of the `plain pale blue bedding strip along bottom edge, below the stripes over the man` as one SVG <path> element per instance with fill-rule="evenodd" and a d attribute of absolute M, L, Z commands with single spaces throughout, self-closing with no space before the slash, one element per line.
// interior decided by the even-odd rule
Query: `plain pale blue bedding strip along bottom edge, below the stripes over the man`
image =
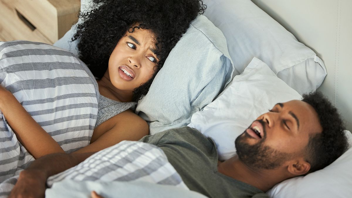
<path fill-rule="evenodd" d="M 206 196 L 180 187 L 153 184 L 145 181 L 74 181 L 63 180 L 45 191 L 50 198 L 87 198 L 90 192 L 104 198 L 206 198 Z"/>

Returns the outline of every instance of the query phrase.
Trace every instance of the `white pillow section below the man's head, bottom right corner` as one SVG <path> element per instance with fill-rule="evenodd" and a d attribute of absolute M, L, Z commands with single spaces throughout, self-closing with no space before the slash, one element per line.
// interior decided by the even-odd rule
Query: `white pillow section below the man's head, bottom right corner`
<path fill-rule="evenodd" d="M 285 180 L 266 193 L 272 198 L 351 197 L 352 134 L 345 132 L 350 148 L 331 165 L 304 177 Z"/>

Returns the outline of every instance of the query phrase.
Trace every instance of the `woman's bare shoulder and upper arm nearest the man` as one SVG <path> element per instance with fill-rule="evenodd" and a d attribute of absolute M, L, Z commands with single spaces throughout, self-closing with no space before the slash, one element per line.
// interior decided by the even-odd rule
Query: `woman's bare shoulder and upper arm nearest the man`
<path fill-rule="evenodd" d="M 149 135 L 149 125 L 132 111 L 126 110 L 95 128 L 90 144 L 74 153 L 96 152 L 122 140 L 138 141 L 146 135 Z"/>

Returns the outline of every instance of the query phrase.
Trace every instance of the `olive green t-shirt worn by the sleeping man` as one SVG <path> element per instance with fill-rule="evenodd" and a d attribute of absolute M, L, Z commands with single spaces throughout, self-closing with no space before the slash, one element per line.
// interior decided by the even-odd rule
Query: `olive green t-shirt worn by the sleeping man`
<path fill-rule="evenodd" d="M 216 198 L 268 197 L 254 186 L 219 173 L 214 141 L 196 129 L 170 129 L 140 141 L 161 148 L 190 190 Z"/>

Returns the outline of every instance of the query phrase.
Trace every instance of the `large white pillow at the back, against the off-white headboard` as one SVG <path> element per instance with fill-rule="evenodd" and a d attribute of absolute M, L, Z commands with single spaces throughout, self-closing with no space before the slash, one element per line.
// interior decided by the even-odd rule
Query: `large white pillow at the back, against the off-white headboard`
<path fill-rule="evenodd" d="M 225 35 L 233 65 L 240 74 L 257 57 L 303 94 L 326 76 L 322 60 L 251 0 L 207 0 L 205 16 Z"/>

